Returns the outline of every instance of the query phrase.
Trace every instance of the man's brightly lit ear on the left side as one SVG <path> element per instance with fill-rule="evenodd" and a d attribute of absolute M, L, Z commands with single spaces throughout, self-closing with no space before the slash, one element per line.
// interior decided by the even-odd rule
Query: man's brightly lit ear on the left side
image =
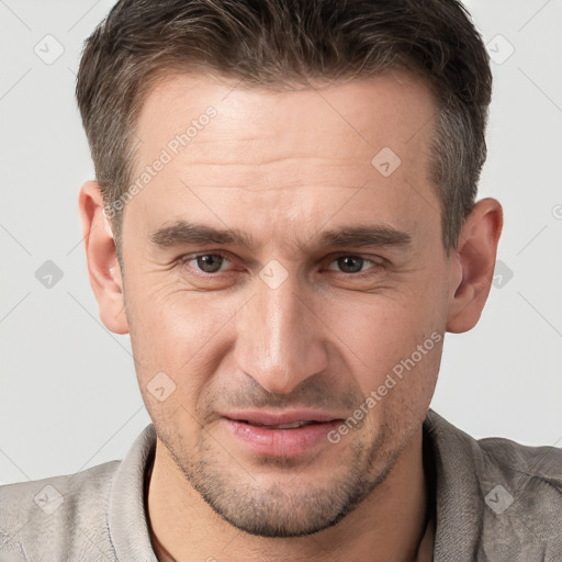
<path fill-rule="evenodd" d="M 90 284 L 108 329 L 128 334 L 123 299 L 123 280 L 110 221 L 103 211 L 103 196 L 95 181 L 82 186 L 78 198 Z"/>

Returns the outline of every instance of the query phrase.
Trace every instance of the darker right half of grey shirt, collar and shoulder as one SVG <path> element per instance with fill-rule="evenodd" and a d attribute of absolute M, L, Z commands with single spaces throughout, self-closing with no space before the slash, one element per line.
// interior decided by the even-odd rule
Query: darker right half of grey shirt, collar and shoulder
<path fill-rule="evenodd" d="M 479 560 L 562 560 L 561 449 L 474 439 L 432 411 L 425 427 L 449 537 L 472 535 Z"/>

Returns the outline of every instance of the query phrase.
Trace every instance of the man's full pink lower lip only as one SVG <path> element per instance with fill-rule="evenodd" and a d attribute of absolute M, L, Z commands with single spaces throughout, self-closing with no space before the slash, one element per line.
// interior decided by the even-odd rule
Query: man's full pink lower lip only
<path fill-rule="evenodd" d="M 328 443 L 327 435 L 340 420 L 325 422 L 294 429 L 269 429 L 236 419 L 223 418 L 228 430 L 247 448 L 266 457 L 294 457 L 317 445 Z"/>

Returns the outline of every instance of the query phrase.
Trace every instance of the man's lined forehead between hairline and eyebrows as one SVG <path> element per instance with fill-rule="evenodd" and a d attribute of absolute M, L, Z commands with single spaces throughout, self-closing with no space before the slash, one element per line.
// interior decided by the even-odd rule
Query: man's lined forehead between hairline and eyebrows
<path fill-rule="evenodd" d="M 153 228 L 206 201 L 205 218 L 217 226 L 221 217 L 247 227 L 254 212 L 257 229 L 288 227 L 297 214 L 317 229 L 355 190 L 338 216 L 374 213 L 404 226 L 393 222 L 419 221 L 428 202 L 439 206 L 427 173 L 434 113 L 429 89 L 402 70 L 291 91 L 170 76 L 142 108 L 132 183 L 166 161 L 127 207 Z"/>

